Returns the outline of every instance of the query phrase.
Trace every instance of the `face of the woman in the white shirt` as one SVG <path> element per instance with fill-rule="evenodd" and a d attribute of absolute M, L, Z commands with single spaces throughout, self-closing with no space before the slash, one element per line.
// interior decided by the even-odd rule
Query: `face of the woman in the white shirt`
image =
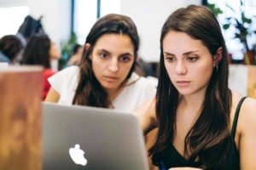
<path fill-rule="evenodd" d="M 106 91 L 119 89 L 134 62 L 131 38 L 123 34 L 105 34 L 100 37 L 90 54 L 92 70 Z"/>

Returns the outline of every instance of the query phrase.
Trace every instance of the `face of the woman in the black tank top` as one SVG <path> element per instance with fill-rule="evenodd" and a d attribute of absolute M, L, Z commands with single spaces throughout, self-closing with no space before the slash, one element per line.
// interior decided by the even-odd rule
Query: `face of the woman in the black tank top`
<path fill-rule="evenodd" d="M 163 39 L 163 53 L 166 71 L 179 94 L 206 93 L 215 62 L 200 40 L 169 31 Z"/>

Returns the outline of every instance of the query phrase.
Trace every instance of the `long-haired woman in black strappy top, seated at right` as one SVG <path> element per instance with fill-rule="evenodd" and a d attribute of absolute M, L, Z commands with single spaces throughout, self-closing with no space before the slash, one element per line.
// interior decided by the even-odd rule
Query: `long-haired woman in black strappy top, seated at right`
<path fill-rule="evenodd" d="M 179 8 L 160 37 L 155 99 L 138 111 L 144 133 L 158 127 L 149 155 L 160 169 L 256 169 L 256 101 L 229 89 L 218 20 L 201 6 Z"/>

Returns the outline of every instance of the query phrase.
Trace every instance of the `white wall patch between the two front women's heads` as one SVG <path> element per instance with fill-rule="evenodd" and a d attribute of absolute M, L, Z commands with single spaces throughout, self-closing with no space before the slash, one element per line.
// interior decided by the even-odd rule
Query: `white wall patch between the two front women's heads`
<path fill-rule="evenodd" d="M 177 8 L 200 0 L 121 0 L 121 14 L 131 17 L 141 38 L 140 56 L 148 62 L 160 57 L 160 30 L 167 17 Z"/>

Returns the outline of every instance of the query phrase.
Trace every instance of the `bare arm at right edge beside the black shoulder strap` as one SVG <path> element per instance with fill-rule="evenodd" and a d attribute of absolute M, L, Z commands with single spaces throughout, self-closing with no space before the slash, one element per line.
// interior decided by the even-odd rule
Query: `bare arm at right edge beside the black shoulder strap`
<path fill-rule="evenodd" d="M 246 99 L 241 105 L 239 142 L 241 170 L 256 169 L 256 100 Z"/>

